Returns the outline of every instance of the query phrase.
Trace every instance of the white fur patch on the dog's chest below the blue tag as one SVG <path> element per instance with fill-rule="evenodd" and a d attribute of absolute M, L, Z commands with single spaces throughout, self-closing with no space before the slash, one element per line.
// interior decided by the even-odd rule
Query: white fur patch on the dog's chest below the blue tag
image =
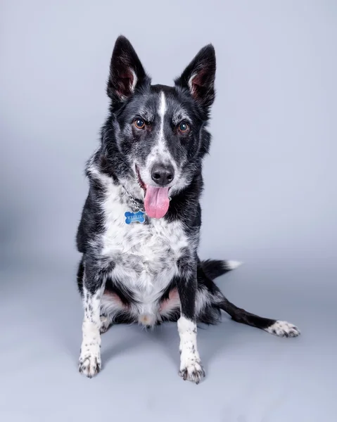
<path fill-rule="evenodd" d="M 188 247 L 182 224 L 151 219 L 149 224 L 125 223 L 131 211 L 113 187 L 104 203 L 105 231 L 102 255 L 114 264 L 113 279 L 132 291 L 143 307 L 153 313 L 153 304 L 177 273 L 177 260 Z"/>

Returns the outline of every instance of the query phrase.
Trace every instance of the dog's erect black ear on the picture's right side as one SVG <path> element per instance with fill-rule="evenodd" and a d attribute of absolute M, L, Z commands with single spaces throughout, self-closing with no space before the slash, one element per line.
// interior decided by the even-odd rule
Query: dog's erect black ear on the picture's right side
<path fill-rule="evenodd" d="M 215 50 L 212 44 L 208 44 L 198 52 L 182 76 L 174 82 L 178 87 L 189 89 L 191 96 L 208 109 L 215 98 L 215 68 Z"/>

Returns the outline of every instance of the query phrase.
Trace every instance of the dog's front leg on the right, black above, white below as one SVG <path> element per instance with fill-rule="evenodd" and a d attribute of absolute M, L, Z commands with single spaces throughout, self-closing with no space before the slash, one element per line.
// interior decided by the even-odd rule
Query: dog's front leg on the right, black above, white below
<path fill-rule="evenodd" d="M 177 289 L 181 303 L 178 319 L 180 371 L 184 380 L 198 384 L 205 376 L 196 345 L 196 261 L 184 258 L 178 265 Z"/>

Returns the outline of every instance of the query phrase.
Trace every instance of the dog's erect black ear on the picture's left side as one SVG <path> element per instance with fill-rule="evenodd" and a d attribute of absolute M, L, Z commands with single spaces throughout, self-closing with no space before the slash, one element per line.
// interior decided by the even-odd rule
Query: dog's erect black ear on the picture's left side
<path fill-rule="evenodd" d="M 110 62 L 106 92 L 113 102 L 125 101 L 137 87 L 149 84 L 150 78 L 141 65 L 130 41 L 122 35 L 117 38 Z"/>

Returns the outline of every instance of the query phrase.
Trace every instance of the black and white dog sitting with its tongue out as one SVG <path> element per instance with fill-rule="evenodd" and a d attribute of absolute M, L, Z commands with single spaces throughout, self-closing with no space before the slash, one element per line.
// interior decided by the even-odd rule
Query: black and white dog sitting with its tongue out
<path fill-rule="evenodd" d="M 84 303 L 79 370 L 101 369 L 101 333 L 112 324 L 177 321 L 180 371 L 205 375 L 196 324 L 234 321 L 280 336 L 298 328 L 229 302 L 213 280 L 233 261 L 198 258 L 202 162 L 215 98 L 215 51 L 205 46 L 174 87 L 151 79 L 125 37 L 115 43 L 107 93 L 110 112 L 101 144 L 87 163 L 89 194 L 77 231 L 77 283 Z"/>

